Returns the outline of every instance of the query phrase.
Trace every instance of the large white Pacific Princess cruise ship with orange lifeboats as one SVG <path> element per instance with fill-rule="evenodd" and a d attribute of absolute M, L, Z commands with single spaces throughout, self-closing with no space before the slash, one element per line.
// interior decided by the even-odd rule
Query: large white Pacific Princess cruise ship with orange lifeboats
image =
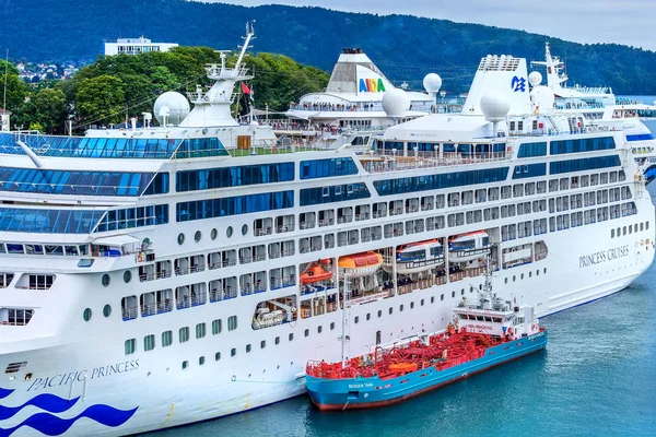
<path fill-rule="evenodd" d="M 443 331 L 488 270 L 500 298 L 544 317 L 653 261 L 623 131 L 552 109 L 525 59 L 482 58 L 461 114 L 394 126 L 366 152 L 236 126 L 242 59 L 208 67 L 188 115 L 160 102 L 157 127 L 0 133 L 1 436 L 248 411 L 305 393 L 309 361 Z M 390 117 L 409 105 L 386 92 Z"/>

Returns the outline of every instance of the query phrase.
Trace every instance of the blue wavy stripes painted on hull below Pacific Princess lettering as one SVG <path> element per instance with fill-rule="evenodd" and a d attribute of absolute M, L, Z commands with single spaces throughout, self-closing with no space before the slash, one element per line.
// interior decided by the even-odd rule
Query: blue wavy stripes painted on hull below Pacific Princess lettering
<path fill-rule="evenodd" d="M 7 398 L 12 392 L 13 390 L 0 388 L 0 399 Z M 13 417 L 21 410 L 30 405 L 47 411 L 47 413 L 33 414 L 14 427 L 0 428 L 0 437 L 9 437 L 23 426 L 28 426 L 47 436 L 60 436 L 69 430 L 70 427 L 82 417 L 91 418 L 101 425 L 117 427 L 128 422 L 139 409 L 136 408 L 133 410 L 124 411 L 105 404 L 96 404 L 89 406 L 82 413 L 71 418 L 61 418 L 51 414 L 69 411 L 79 400 L 80 398 L 75 398 L 69 401 L 55 394 L 45 393 L 34 397 L 20 406 L 10 408 L 0 405 L 0 421 Z"/>

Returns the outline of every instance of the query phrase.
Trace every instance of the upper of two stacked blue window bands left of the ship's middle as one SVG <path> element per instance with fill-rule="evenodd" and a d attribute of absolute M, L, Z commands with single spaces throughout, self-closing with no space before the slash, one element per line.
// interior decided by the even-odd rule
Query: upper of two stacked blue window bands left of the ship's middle
<path fill-rule="evenodd" d="M 294 180 L 294 163 L 203 168 L 176 173 L 178 192 Z"/>

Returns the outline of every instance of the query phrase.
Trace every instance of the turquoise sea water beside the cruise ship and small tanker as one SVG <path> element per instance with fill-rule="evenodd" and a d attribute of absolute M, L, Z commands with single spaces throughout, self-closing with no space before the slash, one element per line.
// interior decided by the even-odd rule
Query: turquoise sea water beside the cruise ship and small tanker
<path fill-rule="evenodd" d="M 656 436 L 656 263 L 541 324 L 546 351 L 398 405 L 320 413 L 300 397 L 148 437 Z"/>

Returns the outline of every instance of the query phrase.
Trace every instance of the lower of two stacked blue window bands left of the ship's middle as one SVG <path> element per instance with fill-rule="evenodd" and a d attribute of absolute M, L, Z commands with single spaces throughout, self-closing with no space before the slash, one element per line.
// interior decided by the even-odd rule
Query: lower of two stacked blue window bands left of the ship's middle
<path fill-rule="evenodd" d="M 176 205 L 176 220 L 225 217 L 229 215 L 250 214 L 262 211 L 276 211 L 294 206 L 294 191 L 266 192 L 260 194 L 237 196 L 222 199 L 180 202 Z"/>

